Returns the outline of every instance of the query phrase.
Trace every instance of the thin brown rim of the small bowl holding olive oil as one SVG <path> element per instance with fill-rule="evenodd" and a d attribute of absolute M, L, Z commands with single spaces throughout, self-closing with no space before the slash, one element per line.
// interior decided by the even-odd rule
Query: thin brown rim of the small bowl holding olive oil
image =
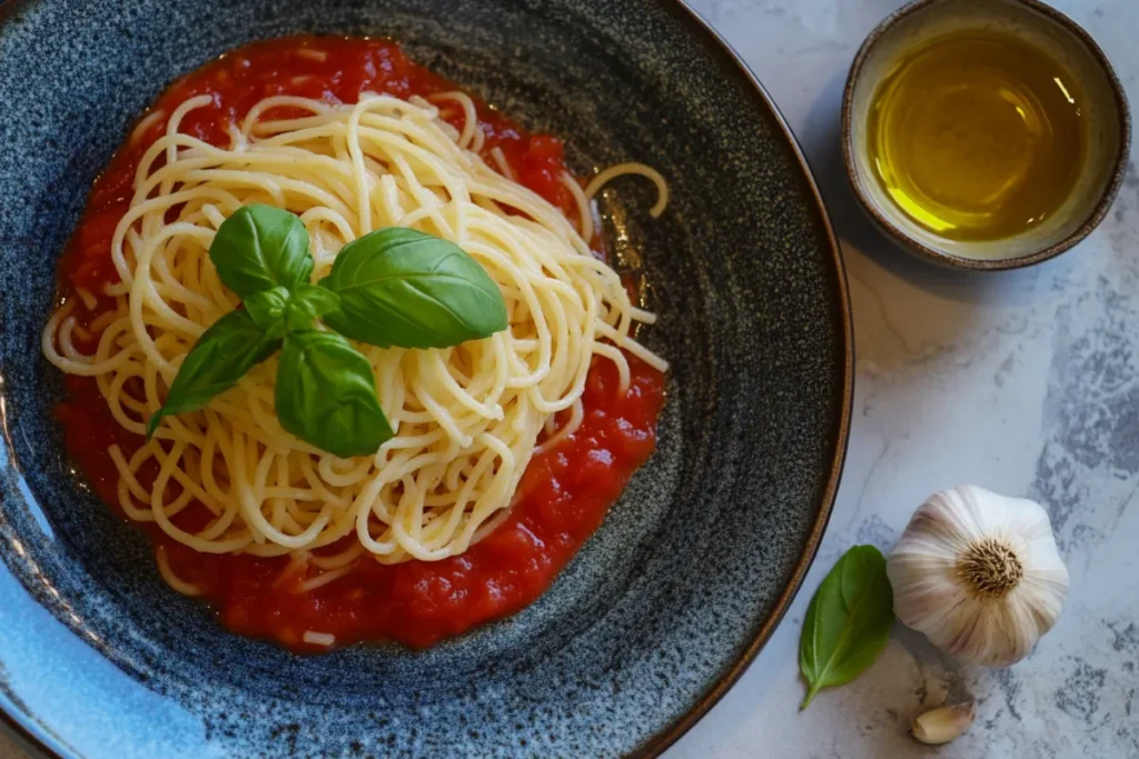
<path fill-rule="evenodd" d="M 1120 188 L 1123 185 L 1123 176 L 1128 168 L 1128 156 L 1131 155 L 1131 112 L 1128 104 L 1128 96 L 1123 89 L 1120 77 L 1115 73 L 1115 68 L 1112 66 L 1111 59 L 1104 49 L 1099 47 L 1099 43 L 1091 36 L 1091 34 L 1081 26 L 1074 18 L 1063 13 L 1062 10 L 1049 6 L 1041 0 L 1009 0 L 1010 2 L 1016 2 L 1025 6 L 1030 10 L 1035 10 L 1036 13 L 1047 16 L 1052 19 L 1066 31 L 1072 33 L 1076 39 L 1079 39 L 1091 52 L 1092 57 L 1099 63 L 1104 69 L 1104 74 L 1107 76 L 1107 82 L 1111 85 L 1112 92 L 1115 96 L 1116 105 L 1120 113 L 1120 149 L 1115 156 L 1115 165 L 1112 167 L 1112 180 L 1108 182 L 1107 187 L 1104 189 L 1104 193 L 1099 198 L 1099 203 L 1089 214 L 1088 218 L 1072 231 L 1063 240 L 1054 242 L 1036 253 L 1030 254 L 1027 256 L 1017 256 L 1015 258 L 998 258 L 998 259 L 984 259 L 984 258 L 966 258 L 964 256 L 954 256 L 942 250 L 936 250 L 925 245 L 920 240 L 917 240 L 906 232 L 903 232 L 896 224 L 894 224 L 890 218 L 885 216 L 882 212 L 875 208 L 874 203 L 870 200 L 867 193 L 863 182 L 859 176 L 858 167 L 854 164 L 854 149 L 851 146 L 853 141 L 853 121 L 852 110 L 854 109 L 854 85 L 862 73 L 862 65 L 870 55 L 870 50 L 878 43 L 882 35 L 885 34 L 890 28 L 898 24 L 903 18 L 907 18 L 916 13 L 925 10 L 927 7 L 936 5 L 939 2 L 944 2 L 945 0 L 915 0 L 908 5 L 902 6 L 894 13 L 886 16 L 882 23 L 874 27 L 866 40 L 862 42 L 861 47 L 858 49 L 858 55 L 854 56 L 854 61 L 851 63 L 850 74 L 846 76 L 846 86 L 843 90 L 843 116 L 842 116 L 842 143 L 843 143 L 843 163 L 846 166 L 846 179 L 850 180 L 851 189 L 854 190 L 854 196 L 858 198 L 859 205 L 862 209 L 870 215 L 870 217 L 877 223 L 878 228 L 882 229 L 886 234 L 892 237 L 901 247 L 908 251 L 917 255 L 919 258 L 925 258 L 931 263 L 937 264 L 940 266 L 948 266 L 950 269 L 972 269 L 975 271 L 1005 271 L 1009 269 L 1023 269 L 1025 266 L 1032 266 L 1033 264 L 1039 264 L 1049 258 L 1055 258 L 1065 250 L 1075 246 L 1076 242 L 1083 238 L 1091 234 L 1091 231 L 1099 226 L 1099 223 L 1104 221 L 1107 216 L 1107 212 L 1111 211 L 1112 204 L 1115 201 L 1115 196 L 1118 195 Z"/>

